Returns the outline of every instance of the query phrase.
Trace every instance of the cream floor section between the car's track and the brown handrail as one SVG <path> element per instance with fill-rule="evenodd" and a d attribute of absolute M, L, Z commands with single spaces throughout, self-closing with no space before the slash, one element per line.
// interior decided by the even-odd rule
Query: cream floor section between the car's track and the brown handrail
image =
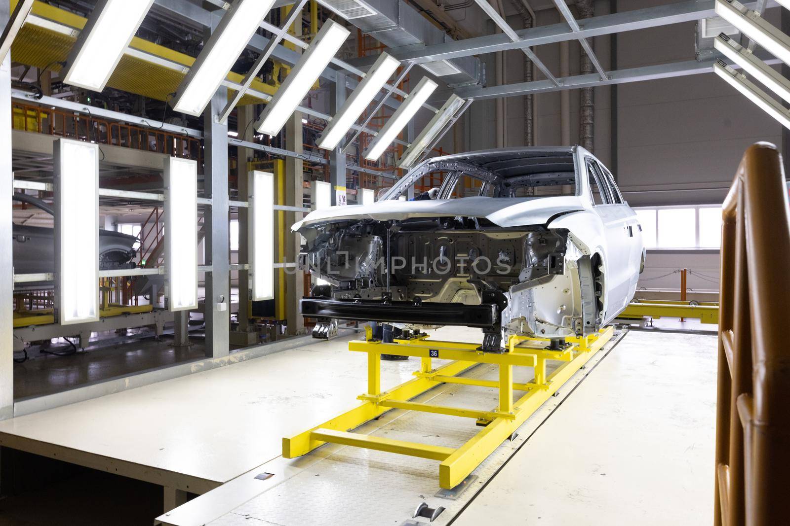
<path fill-rule="evenodd" d="M 453 525 L 711 524 L 716 342 L 632 331 Z"/>

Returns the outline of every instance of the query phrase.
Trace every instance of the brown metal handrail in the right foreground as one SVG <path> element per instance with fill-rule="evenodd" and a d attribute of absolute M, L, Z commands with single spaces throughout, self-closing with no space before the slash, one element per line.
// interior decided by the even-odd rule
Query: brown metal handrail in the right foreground
<path fill-rule="evenodd" d="M 790 487 L 790 211 L 781 155 L 758 143 L 724 200 L 716 526 L 787 522 Z"/>

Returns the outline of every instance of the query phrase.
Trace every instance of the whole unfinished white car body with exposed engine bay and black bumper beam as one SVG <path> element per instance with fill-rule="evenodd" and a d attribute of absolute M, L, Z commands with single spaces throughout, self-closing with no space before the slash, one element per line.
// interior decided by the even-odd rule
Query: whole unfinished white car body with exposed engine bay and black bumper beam
<path fill-rule="evenodd" d="M 438 192 L 414 191 L 437 173 Z M 479 326 L 489 351 L 511 334 L 559 342 L 623 311 L 645 259 L 636 214 L 581 147 L 429 159 L 377 203 L 313 211 L 293 229 L 303 266 L 329 282 L 301 304 L 317 337 L 329 320 L 367 319 Z"/>

